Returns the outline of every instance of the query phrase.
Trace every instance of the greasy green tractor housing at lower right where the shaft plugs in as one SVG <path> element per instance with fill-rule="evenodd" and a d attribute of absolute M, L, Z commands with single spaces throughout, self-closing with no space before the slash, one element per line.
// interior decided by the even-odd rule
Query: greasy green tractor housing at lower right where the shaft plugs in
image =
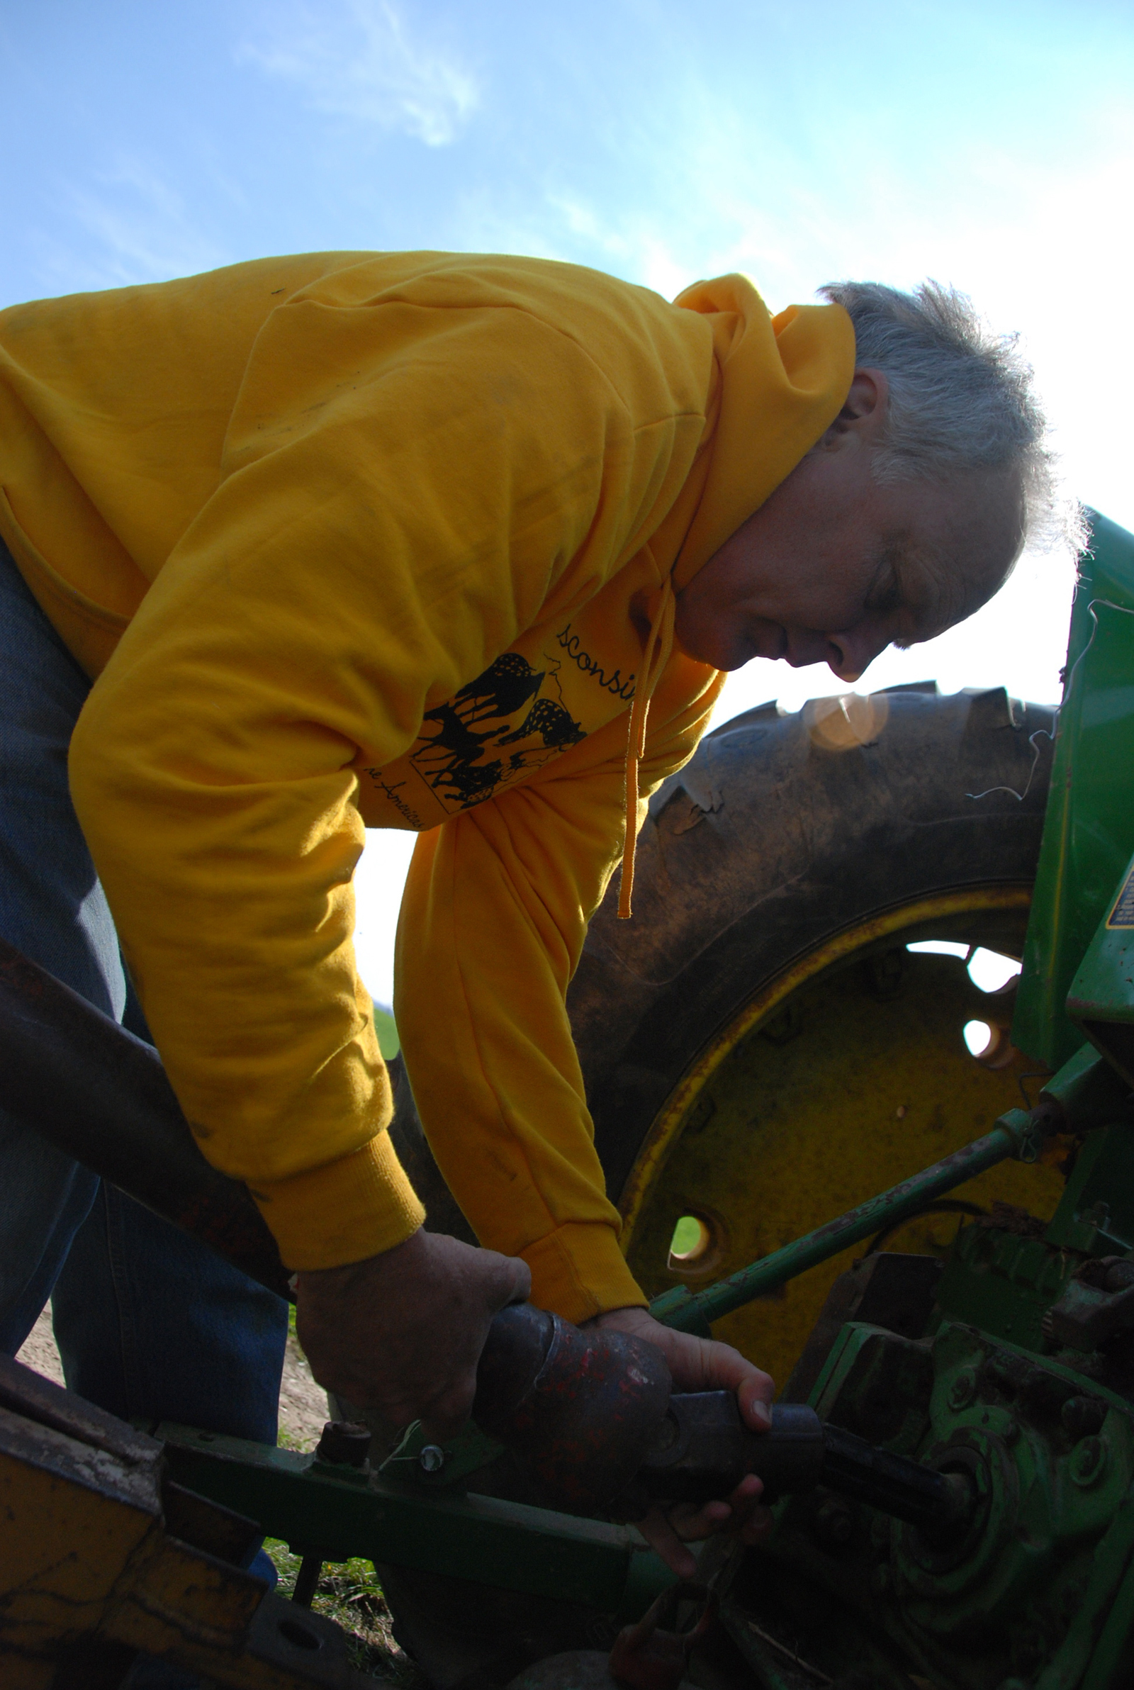
<path fill-rule="evenodd" d="M 776 1507 L 781 1565 L 847 1604 L 848 1631 L 857 1621 L 896 1644 L 935 1685 L 1126 1690 L 1134 1409 L 1092 1386 L 1099 1428 L 1077 1438 L 1053 1411 L 1049 1393 L 1060 1389 L 1073 1401 L 1083 1379 L 1053 1359 L 1039 1367 L 1031 1349 L 970 1325 L 946 1322 L 924 1345 L 850 1322 L 811 1406 L 847 1425 L 877 1413 L 884 1398 L 896 1421 L 889 1448 L 973 1452 L 984 1479 L 980 1540 L 953 1565 L 941 1556 L 935 1567 L 911 1528 L 857 1509 L 847 1540 L 857 1546 L 845 1553 L 816 1535 L 813 1504 L 789 1497 Z M 887 1678 L 879 1673 L 879 1682 Z"/>

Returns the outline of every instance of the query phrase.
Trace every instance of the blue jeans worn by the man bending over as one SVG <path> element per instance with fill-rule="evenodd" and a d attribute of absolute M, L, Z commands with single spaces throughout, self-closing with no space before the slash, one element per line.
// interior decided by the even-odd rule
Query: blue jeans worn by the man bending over
<path fill-rule="evenodd" d="M 0 935 L 149 1038 L 68 789 L 88 691 L 0 542 Z M 0 1350 L 47 1298 L 88 1401 L 275 1443 L 287 1305 L 0 1107 Z"/>

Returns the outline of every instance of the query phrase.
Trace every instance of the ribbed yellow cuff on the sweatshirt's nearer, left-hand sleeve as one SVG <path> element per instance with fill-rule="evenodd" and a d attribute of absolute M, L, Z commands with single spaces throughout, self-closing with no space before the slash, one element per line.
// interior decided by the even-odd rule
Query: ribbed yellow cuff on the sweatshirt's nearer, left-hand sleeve
<path fill-rule="evenodd" d="M 292 1273 L 380 1256 L 426 1218 L 389 1132 L 340 1161 L 291 1180 L 257 1180 L 250 1190 Z"/>

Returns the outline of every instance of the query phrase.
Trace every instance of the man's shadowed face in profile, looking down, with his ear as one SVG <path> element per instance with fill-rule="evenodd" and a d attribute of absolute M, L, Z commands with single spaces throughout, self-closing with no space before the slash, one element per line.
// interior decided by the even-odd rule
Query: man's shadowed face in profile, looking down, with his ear
<path fill-rule="evenodd" d="M 879 483 L 884 417 L 886 377 L 859 370 L 820 446 L 678 595 L 688 656 L 828 662 L 855 681 L 887 646 L 931 639 L 992 597 L 1022 539 L 1016 478 Z"/>

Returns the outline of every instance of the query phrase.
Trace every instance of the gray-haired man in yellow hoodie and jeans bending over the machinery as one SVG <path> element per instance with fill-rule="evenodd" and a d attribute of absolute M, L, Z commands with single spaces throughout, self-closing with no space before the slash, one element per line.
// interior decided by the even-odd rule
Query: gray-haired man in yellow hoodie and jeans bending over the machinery
<path fill-rule="evenodd" d="M 766 1374 L 646 1311 L 566 987 L 615 872 L 630 918 L 646 799 L 723 673 L 852 681 L 982 605 L 1049 502 L 1028 372 L 962 297 L 825 292 L 771 316 L 739 275 L 668 304 L 542 260 L 323 254 L 0 314 L 2 931 L 118 1014 L 120 940 L 201 1149 L 297 1273 L 316 1377 L 394 1423 L 453 1430 L 526 1295 L 767 1423 Z M 390 1148 L 352 948 L 367 826 L 417 833 L 397 1024 L 480 1251 L 423 1230 Z M 181 1384 L 105 1382 L 85 1296 L 122 1239 L 86 1237 L 95 1183 L 10 1117 L 0 1151 L 8 1347 L 63 1274 L 96 1401 L 201 1423 L 188 1376 L 221 1352 L 270 1394 L 279 1313 L 252 1354 L 260 1293 L 191 1257 Z M 130 1244 L 137 1303 L 157 1239 Z M 755 1529 L 745 1486 L 684 1533 Z"/>

